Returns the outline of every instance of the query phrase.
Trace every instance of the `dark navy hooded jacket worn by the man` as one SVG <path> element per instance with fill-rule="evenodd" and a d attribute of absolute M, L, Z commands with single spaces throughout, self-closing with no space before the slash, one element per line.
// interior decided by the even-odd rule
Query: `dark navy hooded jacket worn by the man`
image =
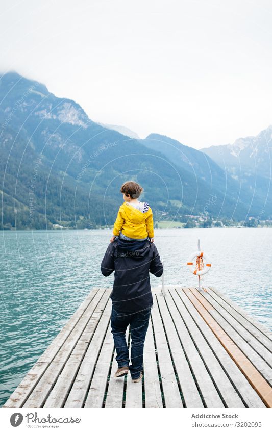
<path fill-rule="evenodd" d="M 117 311 L 136 313 L 153 305 L 150 275 L 161 276 L 163 267 L 154 243 L 119 238 L 109 244 L 101 263 L 101 272 L 114 272 L 110 294 Z"/>

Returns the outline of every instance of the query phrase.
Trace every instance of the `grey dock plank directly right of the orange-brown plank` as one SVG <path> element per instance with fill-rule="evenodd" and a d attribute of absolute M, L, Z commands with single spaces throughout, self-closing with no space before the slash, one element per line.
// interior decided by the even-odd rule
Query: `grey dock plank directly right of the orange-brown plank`
<path fill-rule="evenodd" d="M 198 290 L 193 289 L 191 290 L 191 292 L 202 304 L 204 302 L 203 299 L 205 300 L 205 304 L 208 303 L 208 301 L 202 296 L 202 294 Z M 225 333 L 228 334 L 229 338 L 236 344 L 236 346 L 239 347 L 240 350 L 242 350 L 244 355 L 250 360 L 250 362 L 256 367 L 256 369 L 264 376 L 264 378 L 270 383 L 270 385 L 272 385 L 271 367 L 214 308 L 212 310 L 209 310 L 209 313 L 221 326 L 221 328 L 224 329 Z"/>

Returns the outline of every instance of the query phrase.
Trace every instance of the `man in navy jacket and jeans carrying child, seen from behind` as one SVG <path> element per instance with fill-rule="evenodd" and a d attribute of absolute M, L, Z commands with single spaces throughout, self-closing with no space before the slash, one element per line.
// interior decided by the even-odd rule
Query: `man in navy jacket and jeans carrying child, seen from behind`
<path fill-rule="evenodd" d="M 149 273 L 160 277 L 163 266 L 154 243 L 117 237 L 109 244 L 101 263 L 104 276 L 109 276 L 113 271 L 111 332 L 118 363 L 114 376 L 121 377 L 130 371 L 133 382 L 137 383 L 143 377 L 143 344 L 153 305 Z M 129 325 L 131 365 L 126 342 Z"/>

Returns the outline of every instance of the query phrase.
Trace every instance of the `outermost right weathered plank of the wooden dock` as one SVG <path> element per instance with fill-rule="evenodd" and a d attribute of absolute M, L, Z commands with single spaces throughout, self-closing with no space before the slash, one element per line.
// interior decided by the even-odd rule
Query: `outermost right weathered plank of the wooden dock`
<path fill-rule="evenodd" d="M 247 319 L 244 318 L 240 313 L 238 313 L 234 308 L 226 302 L 224 299 L 222 299 L 220 296 L 218 296 L 213 290 L 207 289 L 207 292 L 201 292 L 204 297 L 209 301 L 209 299 L 212 297 L 215 301 L 218 302 L 218 304 L 224 308 L 232 317 L 234 317 L 242 326 L 244 326 L 248 332 L 250 332 L 261 344 L 263 344 L 270 352 L 272 352 L 272 341 L 269 337 L 264 335 L 261 330 L 256 328 L 251 322 L 249 322 Z M 210 301 L 210 303 L 212 303 Z"/>

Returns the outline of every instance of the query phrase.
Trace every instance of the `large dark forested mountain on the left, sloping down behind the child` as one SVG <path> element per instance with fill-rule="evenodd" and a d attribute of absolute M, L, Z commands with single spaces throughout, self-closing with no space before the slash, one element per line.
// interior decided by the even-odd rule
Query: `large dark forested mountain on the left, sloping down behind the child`
<path fill-rule="evenodd" d="M 151 142 L 93 122 L 75 101 L 55 96 L 41 83 L 16 72 L 3 75 L 1 226 L 111 225 L 122 203 L 120 185 L 130 179 L 144 187 L 142 199 L 149 201 L 155 221 L 186 221 L 188 214 L 246 217 L 248 202 L 225 193 L 226 173 L 203 152 L 188 148 L 187 164 Z M 208 161 L 205 169 L 200 157 Z"/>

